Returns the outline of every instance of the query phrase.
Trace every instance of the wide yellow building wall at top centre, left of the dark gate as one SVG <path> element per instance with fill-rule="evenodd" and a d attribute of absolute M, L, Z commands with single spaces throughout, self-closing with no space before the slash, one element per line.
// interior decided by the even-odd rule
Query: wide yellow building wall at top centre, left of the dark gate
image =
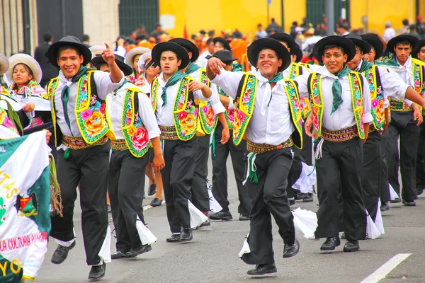
<path fill-rule="evenodd" d="M 285 30 L 290 29 L 293 21 L 301 23 L 305 17 L 305 1 L 284 1 Z M 281 24 L 281 1 L 272 0 L 268 7 L 269 18 L 275 18 Z M 256 26 L 267 23 L 267 0 L 159 0 L 159 16 L 174 16 L 174 28 L 165 29 L 174 37 L 182 37 L 184 25 L 188 36 L 200 30 L 215 30 L 215 35 L 221 31 L 237 28 L 243 35 L 251 38 L 256 33 Z M 170 17 L 168 17 L 170 18 Z"/>

